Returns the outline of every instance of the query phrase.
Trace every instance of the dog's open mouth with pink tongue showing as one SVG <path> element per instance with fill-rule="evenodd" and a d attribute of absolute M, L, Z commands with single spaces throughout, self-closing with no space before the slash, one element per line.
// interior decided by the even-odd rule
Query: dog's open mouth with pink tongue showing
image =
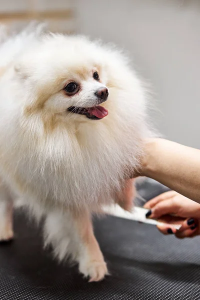
<path fill-rule="evenodd" d="M 86 117 L 93 120 L 99 120 L 104 116 L 108 115 L 107 109 L 100 105 L 94 107 L 88 107 L 88 108 L 71 106 L 67 110 L 73 113 L 84 114 L 86 115 Z"/>

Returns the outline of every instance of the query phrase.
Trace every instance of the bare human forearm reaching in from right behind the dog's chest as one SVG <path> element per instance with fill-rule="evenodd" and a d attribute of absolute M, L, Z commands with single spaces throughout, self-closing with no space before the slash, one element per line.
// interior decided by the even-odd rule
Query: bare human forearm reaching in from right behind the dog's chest
<path fill-rule="evenodd" d="M 146 141 L 140 175 L 200 203 L 200 150 L 161 138 Z"/>

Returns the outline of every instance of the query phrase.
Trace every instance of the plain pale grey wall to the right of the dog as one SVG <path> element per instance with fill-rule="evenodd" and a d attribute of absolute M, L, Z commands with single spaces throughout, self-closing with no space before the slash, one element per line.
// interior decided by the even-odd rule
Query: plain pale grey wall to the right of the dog
<path fill-rule="evenodd" d="M 77 30 L 130 52 L 167 138 L 200 148 L 200 1 L 76 0 Z"/>

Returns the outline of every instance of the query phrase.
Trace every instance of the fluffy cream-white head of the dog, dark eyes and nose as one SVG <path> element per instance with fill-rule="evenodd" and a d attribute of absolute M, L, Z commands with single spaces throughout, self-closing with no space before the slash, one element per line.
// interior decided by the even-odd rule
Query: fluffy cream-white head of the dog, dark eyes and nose
<path fill-rule="evenodd" d="M 43 37 L 15 66 L 25 89 L 24 113 L 40 113 L 45 121 L 51 119 L 51 125 L 52 118 L 106 117 L 111 87 L 106 59 L 105 49 L 83 37 Z"/>

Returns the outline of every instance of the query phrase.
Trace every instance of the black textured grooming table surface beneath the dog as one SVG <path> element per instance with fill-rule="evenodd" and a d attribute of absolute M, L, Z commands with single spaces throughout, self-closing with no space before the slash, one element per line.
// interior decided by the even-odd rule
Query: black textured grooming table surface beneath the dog
<path fill-rule="evenodd" d="M 165 188 L 144 182 L 146 199 Z M 148 195 L 148 196 L 147 196 Z M 94 220 L 111 276 L 87 283 L 42 249 L 41 229 L 15 213 L 15 240 L 0 245 L 0 300 L 199 300 L 200 237 L 176 239 L 112 216 Z"/>

